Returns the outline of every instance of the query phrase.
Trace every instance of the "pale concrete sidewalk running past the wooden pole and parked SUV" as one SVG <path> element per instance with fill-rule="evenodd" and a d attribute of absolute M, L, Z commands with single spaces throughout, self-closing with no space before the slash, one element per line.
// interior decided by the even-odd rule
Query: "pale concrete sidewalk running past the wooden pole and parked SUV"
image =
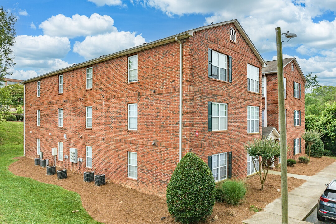
<path fill-rule="evenodd" d="M 280 172 L 268 171 L 280 175 Z M 288 177 L 304 179 L 307 182 L 288 192 L 288 223 L 309 224 L 302 221 L 313 211 L 325 184 L 336 178 L 336 162 L 327 166 L 314 176 L 288 174 Z M 263 211 L 256 213 L 250 219 L 244 220 L 246 224 L 281 224 L 281 197 L 268 204 Z"/>

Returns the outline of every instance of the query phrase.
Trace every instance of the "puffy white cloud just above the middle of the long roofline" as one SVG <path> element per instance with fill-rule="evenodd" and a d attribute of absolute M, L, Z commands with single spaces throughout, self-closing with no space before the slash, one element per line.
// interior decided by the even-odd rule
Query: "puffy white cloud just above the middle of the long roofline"
<path fill-rule="evenodd" d="M 120 50 L 141 45 L 145 39 L 135 32 L 112 32 L 88 36 L 83 42 L 76 41 L 74 52 L 85 59 L 92 59 L 101 55 L 108 55 Z"/>

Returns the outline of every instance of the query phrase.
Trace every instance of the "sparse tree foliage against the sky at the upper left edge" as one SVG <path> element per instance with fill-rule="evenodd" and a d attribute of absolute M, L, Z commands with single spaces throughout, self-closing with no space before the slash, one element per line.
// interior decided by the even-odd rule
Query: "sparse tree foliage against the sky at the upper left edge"
<path fill-rule="evenodd" d="M 16 34 L 14 24 L 16 17 L 13 14 L 0 8 L 0 80 L 9 75 L 8 69 L 15 65 L 13 59 L 13 51 L 10 49 L 14 43 L 14 35 Z"/>

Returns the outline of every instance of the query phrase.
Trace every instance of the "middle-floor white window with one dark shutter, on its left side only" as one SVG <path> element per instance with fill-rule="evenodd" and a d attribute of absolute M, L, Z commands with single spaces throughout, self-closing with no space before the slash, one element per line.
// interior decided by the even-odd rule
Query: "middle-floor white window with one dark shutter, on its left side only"
<path fill-rule="evenodd" d="M 217 128 L 216 125 L 218 126 Z M 227 103 L 212 102 L 211 127 L 212 131 L 227 130 Z"/>

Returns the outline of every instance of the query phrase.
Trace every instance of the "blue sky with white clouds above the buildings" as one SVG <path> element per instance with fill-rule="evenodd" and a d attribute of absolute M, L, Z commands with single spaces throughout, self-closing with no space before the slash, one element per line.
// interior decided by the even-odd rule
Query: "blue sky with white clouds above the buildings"
<path fill-rule="evenodd" d="M 336 86 L 335 0 L 4 0 L 17 16 L 16 65 L 6 78 L 26 80 L 101 55 L 211 23 L 238 19 L 265 61 L 296 57 L 304 75 Z"/>

